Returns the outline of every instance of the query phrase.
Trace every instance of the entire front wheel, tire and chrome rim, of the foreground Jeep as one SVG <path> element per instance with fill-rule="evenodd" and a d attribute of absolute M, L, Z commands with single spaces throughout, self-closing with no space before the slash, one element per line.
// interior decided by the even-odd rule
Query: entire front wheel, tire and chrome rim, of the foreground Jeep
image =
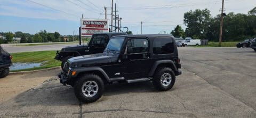
<path fill-rule="evenodd" d="M 84 74 L 74 86 L 76 97 L 84 103 L 97 101 L 103 93 L 104 83 L 96 74 Z"/>

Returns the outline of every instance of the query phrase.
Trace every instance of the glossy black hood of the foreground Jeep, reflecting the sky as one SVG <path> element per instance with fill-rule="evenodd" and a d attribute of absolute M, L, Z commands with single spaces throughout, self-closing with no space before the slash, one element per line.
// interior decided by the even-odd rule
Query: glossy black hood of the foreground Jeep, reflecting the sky
<path fill-rule="evenodd" d="M 100 66 L 106 65 L 111 62 L 117 61 L 117 55 L 114 54 L 91 54 L 91 55 L 84 55 L 84 56 L 77 56 L 73 58 L 69 58 L 68 62 L 70 63 L 70 67 L 87 67 L 87 66 Z"/>

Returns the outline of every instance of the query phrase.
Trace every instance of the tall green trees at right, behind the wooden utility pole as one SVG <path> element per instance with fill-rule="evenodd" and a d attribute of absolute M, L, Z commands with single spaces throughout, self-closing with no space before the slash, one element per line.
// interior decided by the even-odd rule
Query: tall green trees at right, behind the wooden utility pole
<path fill-rule="evenodd" d="M 230 12 L 224 14 L 222 27 L 223 41 L 240 41 L 256 37 L 256 7 L 242 14 Z M 212 17 L 210 10 L 195 10 L 184 13 L 185 31 L 178 25 L 171 34 L 174 37 L 191 37 L 193 39 L 209 39 L 219 41 L 220 17 Z"/>

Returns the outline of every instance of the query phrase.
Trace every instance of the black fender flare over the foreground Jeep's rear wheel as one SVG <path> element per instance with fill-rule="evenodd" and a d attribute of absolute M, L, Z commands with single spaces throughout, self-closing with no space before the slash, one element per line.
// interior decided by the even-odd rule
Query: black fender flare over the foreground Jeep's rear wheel
<path fill-rule="evenodd" d="M 175 66 L 175 64 L 174 64 L 174 62 L 173 61 L 171 61 L 171 60 L 159 60 L 159 61 L 156 61 L 154 64 L 153 64 L 153 66 L 152 66 L 152 68 L 151 68 L 151 70 L 150 70 L 150 72 L 149 72 L 149 77 L 151 77 L 151 76 L 153 76 L 154 75 L 154 73 L 155 73 L 155 71 L 156 71 L 156 69 L 157 69 L 157 66 L 159 65 L 159 64 L 162 64 L 162 63 L 170 63 L 170 64 L 172 64 L 172 67 L 173 67 L 173 71 L 175 72 L 175 71 L 177 71 L 178 69 L 176 68 L 176 66 Z"/>

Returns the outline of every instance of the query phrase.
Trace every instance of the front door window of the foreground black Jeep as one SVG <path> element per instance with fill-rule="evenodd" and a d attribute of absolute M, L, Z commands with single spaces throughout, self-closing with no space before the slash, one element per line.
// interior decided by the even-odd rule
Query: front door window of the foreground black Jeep
<path fill-rule="evenodd" d="M 148 53 L 148 39 L 129 39 L 127 41 L 127 53 Z"/>

